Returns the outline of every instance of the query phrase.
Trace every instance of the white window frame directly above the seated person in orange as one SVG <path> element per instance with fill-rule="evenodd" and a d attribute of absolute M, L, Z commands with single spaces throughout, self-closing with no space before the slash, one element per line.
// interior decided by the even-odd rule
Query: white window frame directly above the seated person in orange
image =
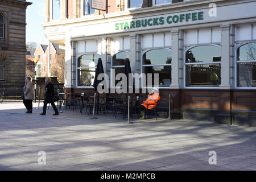
<path fill-rule="evenodd" d="M 150 49 L 142 49 L 142 53 L 141 53 L 141 74 L 144 73 L 143 72 L 143 67 L 159 67 L 159 66 L 171 66 L 172 69 L 172 63 L 171 64 L 143 64 L 143 55 L 144 53 L 147 53 L 149 51 L 152 50 L 157 50 L 157 49 L 167 49 L 172 51 L 171 47 L 154 47 L 154 48 L 150 48 Z M 146 83 L 147 84 L 147 83 Z M 172 79 L 171 79 L 171 84 L 172 84 Z M 147 88 L 151 88 L 152 86 L 143 86 L 143 79 L 141 79 L 141 88 L 142 89 L 147 89 Z M 158 86 L 159 89 L 170 89 L 170 86 Z"/>

